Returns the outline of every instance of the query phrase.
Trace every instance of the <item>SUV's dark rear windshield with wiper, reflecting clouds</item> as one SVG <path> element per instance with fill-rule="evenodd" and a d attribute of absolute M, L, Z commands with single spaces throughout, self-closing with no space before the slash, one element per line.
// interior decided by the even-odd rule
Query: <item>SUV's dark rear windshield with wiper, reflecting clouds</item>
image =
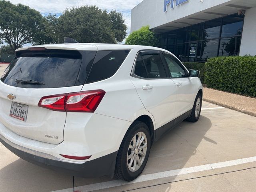
<path fill-rule="evenodd" d="M 78 51 L 46 50 L 17 53 L 2 82 L 24 88 L 57 88 L 75 86 L 82 56 Z M 42 84 L 19 82 L 33 80 Z"/>

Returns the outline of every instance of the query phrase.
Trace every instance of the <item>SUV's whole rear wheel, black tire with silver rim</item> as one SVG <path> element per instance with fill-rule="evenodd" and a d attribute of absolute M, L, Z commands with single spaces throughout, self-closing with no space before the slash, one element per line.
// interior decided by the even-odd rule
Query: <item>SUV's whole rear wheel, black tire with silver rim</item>
<path fill-rule="evenodd" d="M 144 139 L 140 145 L 136 145 L 139 137 Z M 134 122 L 126 132 L 118 150 L 114 176 L 125 181 L 136 179 L 146 166 L 150 148 L 151 137 L 148 126 L 140 121 Z"/>

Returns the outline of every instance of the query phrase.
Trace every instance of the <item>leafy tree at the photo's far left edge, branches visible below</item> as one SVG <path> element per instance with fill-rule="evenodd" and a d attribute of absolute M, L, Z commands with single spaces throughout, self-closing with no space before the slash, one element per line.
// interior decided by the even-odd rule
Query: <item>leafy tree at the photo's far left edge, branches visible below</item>
<path fill-rule="evenodd" d="M 12 50 L 26 43 L 32 43 L 36 37 L 42 15 L 28 6 L 14 5 L 0 0 L 0 38 L 10 45 Z"/>

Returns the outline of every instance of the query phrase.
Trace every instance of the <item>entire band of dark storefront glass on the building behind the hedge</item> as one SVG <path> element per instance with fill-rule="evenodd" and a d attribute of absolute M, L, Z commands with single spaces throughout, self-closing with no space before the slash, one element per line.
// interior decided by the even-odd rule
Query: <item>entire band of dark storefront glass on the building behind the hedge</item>
<path fill-rule="evenodd" d="M 184 62 L 205 62 L 211 57 L 238 55 L 243 22 L 244 15 L 233 14 L 169 31 L 164 33 L 160 47 Z"/>

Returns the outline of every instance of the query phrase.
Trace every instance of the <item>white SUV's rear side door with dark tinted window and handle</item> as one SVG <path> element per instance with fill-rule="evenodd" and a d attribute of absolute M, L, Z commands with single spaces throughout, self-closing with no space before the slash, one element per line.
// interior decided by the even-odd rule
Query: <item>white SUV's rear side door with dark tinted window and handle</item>
<path fill-rule="evenodd" d="M 157 50 L 141 51 L 130 77 L 138 95 L 159 128 L 174 119 L 176 86 L 167 77 Z"/>

